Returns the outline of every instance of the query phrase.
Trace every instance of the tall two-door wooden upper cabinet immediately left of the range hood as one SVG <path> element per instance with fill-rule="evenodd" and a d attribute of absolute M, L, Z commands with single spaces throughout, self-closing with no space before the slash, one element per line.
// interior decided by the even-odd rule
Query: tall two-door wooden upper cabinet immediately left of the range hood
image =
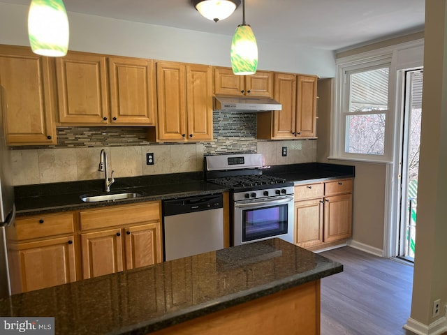
<path fill-rule="evenodd" d="M 210 66 L 159 62 L 157 140 L 212 140 L 212 70 Z"/>

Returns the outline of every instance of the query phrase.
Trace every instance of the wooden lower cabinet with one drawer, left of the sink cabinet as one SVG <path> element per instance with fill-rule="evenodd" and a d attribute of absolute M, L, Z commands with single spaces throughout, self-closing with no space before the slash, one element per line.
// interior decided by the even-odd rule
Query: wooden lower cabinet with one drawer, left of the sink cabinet
<path fill-rule="evenodd" d="M 6 228 L 13 294 L 78 279 L 74 222 L 65 212 L 17 218 Z"/>

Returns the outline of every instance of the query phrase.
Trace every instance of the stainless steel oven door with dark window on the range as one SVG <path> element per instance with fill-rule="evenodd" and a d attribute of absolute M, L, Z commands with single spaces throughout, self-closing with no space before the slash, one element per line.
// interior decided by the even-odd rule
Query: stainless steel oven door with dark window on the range
<path fill-rule="evenodd" d="M 234 202 L 234 246 L 272 237 L 293 243 L 293 195 Z"/>

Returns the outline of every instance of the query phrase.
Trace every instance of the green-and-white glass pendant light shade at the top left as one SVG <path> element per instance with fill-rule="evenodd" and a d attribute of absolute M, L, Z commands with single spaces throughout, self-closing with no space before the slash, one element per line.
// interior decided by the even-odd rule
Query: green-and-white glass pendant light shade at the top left
<path fill-rule="evenodd" d="M 28 12 L 31 50 L 50 57 L 65 56 L 69 39 L 68 17 L 62 0 L 32 0 Z"/>

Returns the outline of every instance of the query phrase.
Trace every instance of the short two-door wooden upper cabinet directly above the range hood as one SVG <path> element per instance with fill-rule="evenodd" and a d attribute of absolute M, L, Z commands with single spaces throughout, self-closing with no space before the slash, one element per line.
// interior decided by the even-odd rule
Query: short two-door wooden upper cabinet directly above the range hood
<path fill-rule="evenodd" d="M 214 67 L 217 96 L 273 97 L 273 73 L 258 70 L 254 75 L 235 75 L 231 68 Z"/>

